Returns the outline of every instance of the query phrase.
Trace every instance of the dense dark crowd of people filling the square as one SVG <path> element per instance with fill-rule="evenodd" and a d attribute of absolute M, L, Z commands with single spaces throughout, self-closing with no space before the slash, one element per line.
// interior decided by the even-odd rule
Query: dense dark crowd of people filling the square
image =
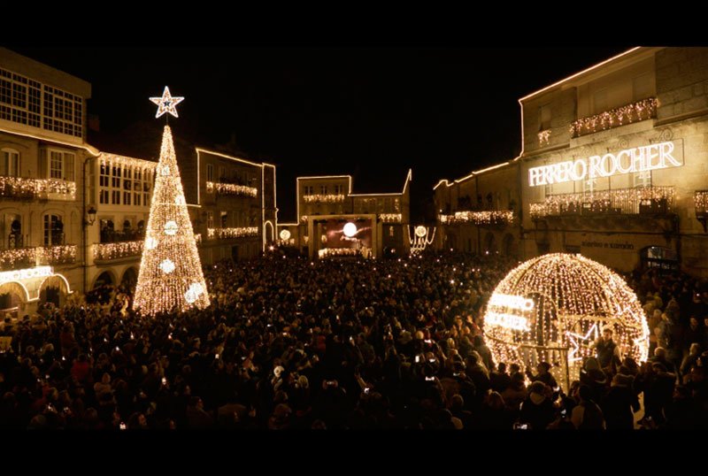
<path fill-rule="evenodd" d="M 616 356 L 606 335 L 566 395 L 556 363 L 495 362 L 485 344 L 484 305 L 515 265 L 276 252 L 208 266 L 204 311 L 142 318 L 128 289 L 104 287 L 8 317 L 0 427 L 631 429 L 638 411 L 643 428 L 708 427 L 704 281 L 628 276 L 650 361 Z"/>

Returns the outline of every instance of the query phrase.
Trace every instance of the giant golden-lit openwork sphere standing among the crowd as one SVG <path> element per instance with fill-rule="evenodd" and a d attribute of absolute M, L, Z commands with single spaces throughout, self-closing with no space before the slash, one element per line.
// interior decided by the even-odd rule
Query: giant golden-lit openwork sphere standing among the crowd
<path fill-rule="evenodd" d="M 596 356 L 593 344 L 607 327 L 622 358 L 647 359 L 649 328 L 634 291 L 604 265 L 562 253 L 513 269 L 496 286 L 484 315 L 496 362 L 535 372 L 546 361 L 564 387 L 578 380 L 585 357 Z"/>

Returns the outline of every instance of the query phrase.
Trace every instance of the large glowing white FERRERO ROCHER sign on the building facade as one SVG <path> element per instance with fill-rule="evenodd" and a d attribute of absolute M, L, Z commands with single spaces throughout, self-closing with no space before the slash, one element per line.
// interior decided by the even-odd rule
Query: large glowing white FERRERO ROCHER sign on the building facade
<path fill-rule="evenodd" d="M 558 164 L 542 165 L 528 169 L 529 187 L 563 183 L 566 181 L 589 180 L 623 173 L 647 172 L 650 170 L 680 167 L 683 165 L 681 148 L 673 142 L 655 144 L 608 152 L 603 156 L 590 156 L 576 160 L 566 160 Z"/>

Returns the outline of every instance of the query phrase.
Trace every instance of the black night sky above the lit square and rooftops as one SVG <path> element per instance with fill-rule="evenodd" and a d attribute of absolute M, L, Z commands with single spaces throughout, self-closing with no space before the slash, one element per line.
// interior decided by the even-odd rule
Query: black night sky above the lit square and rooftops
<path fill-rule="evenodd" d="M 411 167 L 414 222 L 437 180 L 516 157 L 519 97 L 627 50 L 9 48 L 89 81 L 89 114 L 126 142 L 128 127 L 163 120 L 148 97 L 168 85 L 186 97 L 175 135 L 205 147 L 233 135 L 277 165 L 281 221 L 295 219 L 298 175 L 350 173 L 355 192 L 389 192 Z"/>

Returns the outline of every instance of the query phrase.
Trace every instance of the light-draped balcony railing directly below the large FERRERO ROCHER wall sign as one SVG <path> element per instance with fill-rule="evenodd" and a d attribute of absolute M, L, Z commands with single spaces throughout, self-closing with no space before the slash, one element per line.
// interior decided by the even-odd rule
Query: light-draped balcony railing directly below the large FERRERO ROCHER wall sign
<path fill-rule="evenodd" d="M 616 188 L 547 196 L 531 203 L 532 219 L 560 215 L 673 213 L 673 187 Z"/>

